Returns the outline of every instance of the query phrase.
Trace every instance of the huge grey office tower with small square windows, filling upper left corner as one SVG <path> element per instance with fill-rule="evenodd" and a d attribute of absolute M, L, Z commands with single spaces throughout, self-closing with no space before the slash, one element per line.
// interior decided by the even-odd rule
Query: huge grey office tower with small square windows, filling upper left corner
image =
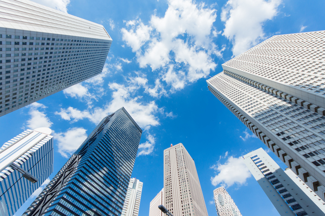
<path fill-rule="evenodd" d="M 0 116 L 102 72 L 103 25 L 28 0 L 0 5 Z"/>

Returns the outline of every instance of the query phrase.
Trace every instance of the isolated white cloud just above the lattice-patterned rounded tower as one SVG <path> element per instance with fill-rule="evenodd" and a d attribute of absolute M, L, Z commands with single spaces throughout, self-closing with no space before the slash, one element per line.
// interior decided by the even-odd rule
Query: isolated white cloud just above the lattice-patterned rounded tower
<path fill-rule="evenodd" d="M 224 164 L 218 162 L 210 168 L 218 172 L 214 177 L 211 177 L 211 184 L 213 186 L 219 184 L 225 188 L 234 184 L 241 186 L 245 184 L 246 179 L 251 176 L 251 173 L 241 157 L 234 158 L 230 156 Z"/>

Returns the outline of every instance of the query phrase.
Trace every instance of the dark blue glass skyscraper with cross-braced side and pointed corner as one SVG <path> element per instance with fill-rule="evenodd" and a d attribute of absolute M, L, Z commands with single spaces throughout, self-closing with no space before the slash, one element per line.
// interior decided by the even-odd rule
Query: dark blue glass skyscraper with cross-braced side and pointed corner
<path fill-rule="evenodd" d="M 24 215 L 121 215 L 141 133 L 124 107 L 105 117 Z"/>

